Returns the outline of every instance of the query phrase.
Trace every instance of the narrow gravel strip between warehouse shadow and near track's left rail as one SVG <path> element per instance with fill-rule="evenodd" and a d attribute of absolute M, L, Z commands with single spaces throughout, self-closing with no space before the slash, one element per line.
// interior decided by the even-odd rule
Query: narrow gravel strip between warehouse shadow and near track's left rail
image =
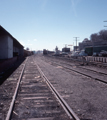
<path fill-rule="evenodd" d="M 0 120 L 6 118 L 23 63 L 0 85 Z"/>

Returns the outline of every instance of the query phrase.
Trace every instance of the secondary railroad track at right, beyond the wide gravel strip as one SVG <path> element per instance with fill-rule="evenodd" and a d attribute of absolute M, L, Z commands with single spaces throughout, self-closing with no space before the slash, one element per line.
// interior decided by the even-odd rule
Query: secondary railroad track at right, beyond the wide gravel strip
<path fill-rule="evenodd" d="M 95 71 L 95 70 L 84 68 L 84 67 L 80 67 L 80 65 L 71 65 L 71 64 L 68 64 L 68 63 L 65 63 L 62 61 L 58 61 L 58 60 L 53 61 L 51 59 L 51 61 L 49 61 L 49 62 L 50 62 L 50 64 L 52 64 L 54 66 L 61 66 L 65 70 L 71 70 L 71 71 L 74 71 L 81 75 L 87 76 L 89 78 L 92 78 L 92 79 L 95 79 L 97 81 L 107 84 L 107 79 L 106 79 L 107 74 L 106 73 Z"/>

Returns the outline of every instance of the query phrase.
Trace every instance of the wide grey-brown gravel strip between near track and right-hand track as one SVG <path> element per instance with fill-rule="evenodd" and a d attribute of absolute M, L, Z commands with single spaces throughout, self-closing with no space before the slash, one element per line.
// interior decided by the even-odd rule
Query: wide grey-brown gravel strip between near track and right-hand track
<path fill-rule="evenodd" d="M 52 66 L 42 56 L 36 56 L 35 61 L 80 118 L 107 120 L 106 84 Z"/>

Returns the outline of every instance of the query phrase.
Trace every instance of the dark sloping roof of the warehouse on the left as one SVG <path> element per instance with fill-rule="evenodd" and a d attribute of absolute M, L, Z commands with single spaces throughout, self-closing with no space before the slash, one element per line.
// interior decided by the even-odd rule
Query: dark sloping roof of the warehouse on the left
<path fill-rule="evenodd" d="M 9 35 L 13 39 L 13 45 L 18 46 L 18 47 L 23 47 L 18 40 L 16 40 L 7 30 L 5 30 L 1 25 L 0 25 L 0 35 Z"/>

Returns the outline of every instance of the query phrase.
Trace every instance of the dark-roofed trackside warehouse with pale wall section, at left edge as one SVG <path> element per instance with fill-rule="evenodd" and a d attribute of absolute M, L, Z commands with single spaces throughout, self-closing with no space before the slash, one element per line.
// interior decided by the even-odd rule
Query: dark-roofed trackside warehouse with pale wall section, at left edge
<path fill-rule="evenodd" d="M 23 46 L 2 26 L 0 26 L 0 59 L 23 56 Z"/>

